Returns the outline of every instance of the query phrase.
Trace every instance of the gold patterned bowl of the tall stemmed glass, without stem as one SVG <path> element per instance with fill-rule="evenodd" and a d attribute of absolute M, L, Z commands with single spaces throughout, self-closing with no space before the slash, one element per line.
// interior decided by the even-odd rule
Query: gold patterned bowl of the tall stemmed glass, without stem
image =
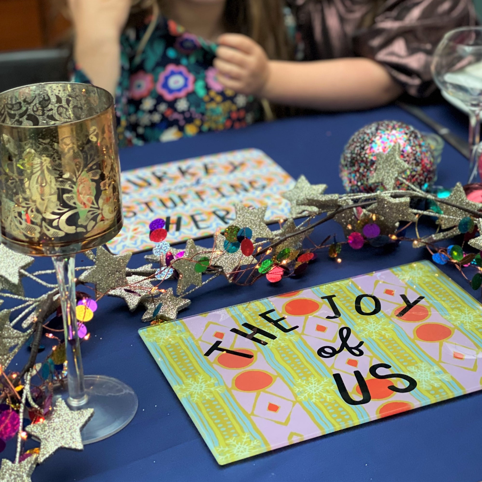
<path fill-rule="evenodd" d="M 31 255 L 71 254 L 122 228 L 112 96 L 45 83 L 0 94 L 3 242 Z"/>

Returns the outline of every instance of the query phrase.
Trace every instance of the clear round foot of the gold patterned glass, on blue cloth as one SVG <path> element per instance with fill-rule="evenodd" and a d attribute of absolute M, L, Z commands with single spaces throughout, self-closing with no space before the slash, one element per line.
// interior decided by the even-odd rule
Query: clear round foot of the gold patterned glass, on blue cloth
<path fill-rule="evenodd" d="M 87 401 L 80 406 L 72 406 L 66 389 L 55 392 L 55 398 L 62 397 L 71 410 L 93 408 L 94 416 L 82 429 L 82 442 L 99 442 L 119 432 L 133 418 L 137 411 L 137 396 L 125 383 L 104 375 L 84 377 Z"/>

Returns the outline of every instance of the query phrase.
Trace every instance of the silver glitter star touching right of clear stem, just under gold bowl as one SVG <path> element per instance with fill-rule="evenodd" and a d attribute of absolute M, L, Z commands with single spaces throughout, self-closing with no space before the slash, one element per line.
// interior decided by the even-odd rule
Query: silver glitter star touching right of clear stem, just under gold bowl
<path fill-rule="evenodd" d="M 131 259 L 132 253 L 110 254 L 102 246 L 97 248 L 95 265 L 83 272 L 79 280 L 86 283 L 94 283 L 95 289 L 100 293 L 107 293 L 113 288 L 125 286 L 127 279 L 125 268 Z"/>

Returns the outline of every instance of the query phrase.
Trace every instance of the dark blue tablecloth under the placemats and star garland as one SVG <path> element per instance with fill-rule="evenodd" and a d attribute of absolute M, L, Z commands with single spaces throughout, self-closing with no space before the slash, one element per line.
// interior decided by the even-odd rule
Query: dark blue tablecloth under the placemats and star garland
<path fill-rule="evenodd" d="M 457 134 L 467 135 L 467 121 L 448 106 L 426 111 Z M 356 130 L 375 120 L 396 119 L 429 131 L 398 107 L 367 112 L 326 114 L 254 125 L 241 131 L 203 134 L 169 144 L 123 150 L 122 169 L 174 161 L 244 147 L 264 150 L 288 173 L 305 174 L 311 183 L 328 184 L 328 193 L 342 192 L 338 177 L 340 153 Z M 445 146 L 438 184 L 451 187 L 465 181 L 468 162 Z M 316 233 L 317 231 L 315 231 Z M 318 229 L 314 238 L 342 231 L 335 223 Z M 209 246 L 212 240 L 201 241 Z M 306 275 L 276 286 L 228 286 L 214 281 L 192 295 L 182 314 L 194 315 L 276 293 L 299 290 L 428 257 L 409 243 L 386 252 L 345 249 L 343 262 L 321 255 Z M 79 263 L 81 262 L 79 258 Z M 144 264 L 142 254 L 132 266 Z M 36 262 L 37 269 L 49 260 Z M 455 268 L 445 272 L 463 288 L 467 282 Z M 29 284 L 30 293 L 38 289 Z M 134 420 L 113 437 L 85 447 L 82 453 L 58 451 L 33 475 L 34 482 L 152 482 L 152 481 L 480 481 L 482 479 L 482 393 L 431 405 L 402 415 L 297 443 L 238 463 L 217 465 L 191 423 L 174 391 L 159 370 L 137 330 L 142 311 L 130 313 L 120 299 L 105 298 L 89 324 L 92 337 L 83 343 L 87 374 L 120 378 L 139 398 Z M 7 455 L 12 456 L 10 448 Z"/>

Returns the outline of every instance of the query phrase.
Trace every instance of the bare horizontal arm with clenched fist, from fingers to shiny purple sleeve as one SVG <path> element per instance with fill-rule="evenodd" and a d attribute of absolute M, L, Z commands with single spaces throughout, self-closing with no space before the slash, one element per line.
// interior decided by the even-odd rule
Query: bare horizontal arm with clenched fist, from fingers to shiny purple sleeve
<path fill-rule="evenodd" d="M 219 44 L 214 61 L 218 80 L 241 94 L 323 110 L 381 106 L 402 94 L 385 67 L 368 58 L 268 60 L 254 40 L 239 34 L 222 35 Z"/>

